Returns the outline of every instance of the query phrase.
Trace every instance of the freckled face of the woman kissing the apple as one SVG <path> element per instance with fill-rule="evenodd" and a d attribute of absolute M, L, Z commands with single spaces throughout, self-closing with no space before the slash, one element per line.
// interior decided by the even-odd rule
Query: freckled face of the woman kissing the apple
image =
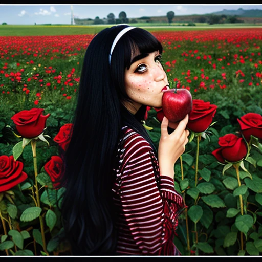
<path fill-rule="evenodd" d="M 164 93 L 161 90 L 168 85 L 168 80 L 160 59 L 159 51 L 140 54 L 133 58 L 129 69 L 125 69 L 126 93 L 133 100 L 136 111 L 141 105 L 162 107 Z M 136 113 L 133 107 L 129 110 Z"/>

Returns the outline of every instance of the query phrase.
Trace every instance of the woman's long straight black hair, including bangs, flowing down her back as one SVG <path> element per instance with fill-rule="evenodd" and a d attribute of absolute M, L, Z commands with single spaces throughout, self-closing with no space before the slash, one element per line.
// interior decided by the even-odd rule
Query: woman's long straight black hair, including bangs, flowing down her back
<path fill-rule="evenodd" d="M 128 126 L 154 143 L 143 127 L 146 105 L 133 115 L 126 108 L 132 103 L 124 86 L 125 68 L 139 53 L 159 50 L 161 43 L 141 28 L 126 32 L 108 55 L 116 35 L 127 25 L 106 28 L 88 46 L 79 82 L 71 141 L 64 153 L 61 215 L 64 233 L 73 255 L 115 255 L 117 214 L 111 185 L 116 147 L 121 127 Z M 131 104 L 130 104 L 131 105 Z"/>

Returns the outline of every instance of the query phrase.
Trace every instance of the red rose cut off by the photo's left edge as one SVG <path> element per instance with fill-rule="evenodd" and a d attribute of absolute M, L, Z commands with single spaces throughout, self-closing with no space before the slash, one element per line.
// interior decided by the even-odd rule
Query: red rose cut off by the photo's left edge
<path fill-rule="evenodd" d="M 24 164 L 14 161 L 13 155 L 0 157 L 0 192 L 9 190 L 27 179 Z"/>

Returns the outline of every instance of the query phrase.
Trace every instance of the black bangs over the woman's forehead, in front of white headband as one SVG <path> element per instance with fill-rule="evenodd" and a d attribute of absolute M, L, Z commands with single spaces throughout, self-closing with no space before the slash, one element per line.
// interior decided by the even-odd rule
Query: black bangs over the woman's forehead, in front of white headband
<path fill-rule="evenodd" d="M 119 46 L 124 49 L 124 67 L 129 69 L 132 59 L 139 54 L 149 54 L 159 51 L 162 54 L 163 48 L 158 39 L 150 32 L 135 28 L 128 31 L 122 39 L 119 40 Z"/>

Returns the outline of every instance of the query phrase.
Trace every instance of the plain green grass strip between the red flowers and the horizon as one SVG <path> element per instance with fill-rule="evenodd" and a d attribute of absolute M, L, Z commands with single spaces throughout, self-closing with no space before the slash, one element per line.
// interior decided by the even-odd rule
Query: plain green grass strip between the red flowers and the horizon
<path fill-rule="evenodd" d="M 168 24 L 155 23 L 150 26 L 148 23 L 130 24 L 131 26 L 146 28 L 148 31 L 187 31 L 187 30 L 207 30 L 212 28 L 245 28 L 245 27 L 262 27 L 262 25 L 252 24 L 224 24 L 224 25 L 208 25 L 206 23 L 197 23 L 196 26 L 188 27 L 182 26 L 182 24 L 172 23 Z M 179 26 L 180 25 L 180 26 Z M 97 34 L 99 31 L 106 27 L 113 25 L 1 25 L 0 36 L 30 36 L 30 35 L 79 35 L 79 34 Z"/>

